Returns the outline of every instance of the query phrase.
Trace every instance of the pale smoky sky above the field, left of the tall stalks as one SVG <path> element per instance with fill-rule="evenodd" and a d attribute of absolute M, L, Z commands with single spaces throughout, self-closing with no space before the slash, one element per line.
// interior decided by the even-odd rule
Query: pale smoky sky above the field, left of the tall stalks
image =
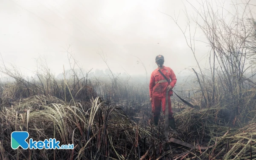
<path fill-rule="evenodd" d="M 150 74 L 156 68 L 155 56 L 162 54 L 165 65 L 179 73 L 196 63 L 182 32 L 159 11 L 177 16 L 182 13 L 182 1 L 0 0 L 0 53 L 6 64 L 23 71 L 36 70 L 35 58 L 44 57 L 58 74 L 63 64 L 69 67 L 66 50 L 70 45 L 69 51 L 85 70 L 105 70 L 99 55 L 103 52 L 113 72 L 126 70 L 131 75 L 145 74 L 138 58 Z M 184 28 L 182 14 L 179 23 Z M 205 40 L 201 32 L 196 38 Z M 197 43 L 196 56 L 203 66 L 208 49 Z"/>

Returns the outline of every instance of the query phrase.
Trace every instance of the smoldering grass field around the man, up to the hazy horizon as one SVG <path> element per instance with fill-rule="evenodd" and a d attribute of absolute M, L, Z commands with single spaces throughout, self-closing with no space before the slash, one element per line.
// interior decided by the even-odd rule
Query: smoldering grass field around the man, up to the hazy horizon
<path fill-rule="evenodd" d="M 63 77 L 47 72 L 47 67 L 32 78 L 15 68 L 1 68 L 2 159 L 232 159 L 255 155 L 254 79 L 242 90 L 224 90 L 229 83 L 216 78 L 216 99 L 204 102 L 204 91 L 212 96 L 210 75 L 204 75 L 204 91 L 194 73 L 178 76 L 175 93 L 196 108 L 172 96 L 179 135 L 184 142 L 214 147 L 187 148 L 164 140 L 164 116 L 153 128 L 147 77 L 118 74 L 98 75 L 73 68 Z M 247 75 L 250 77 L 250 75 Z M 225 85 L 223 85 L 223 83 Z M 201 84 L 202 85 L 202 84 Z M 228 86 L 226 86 L 228 87 Z M 205 93 L 206 94 L 206 93 Z M 239 96 L 241 96 L 239 98 Z M 13 131 L 28 131 L 29 138 L 56 138 L 61 144 L 74 144 L 73 150 L 13 150 Z"/>

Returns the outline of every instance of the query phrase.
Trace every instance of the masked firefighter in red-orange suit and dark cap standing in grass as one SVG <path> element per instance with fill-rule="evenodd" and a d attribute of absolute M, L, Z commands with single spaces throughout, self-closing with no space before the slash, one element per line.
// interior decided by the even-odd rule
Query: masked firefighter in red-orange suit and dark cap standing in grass
<path fill-rule="evenodd" d="M 159 116 L 161 112 L 161 105 L 163 109 L 163 113 L 165 114 L 166 108 L 166 90 L 168 90 L 168 105 L 169 105 L 169 126 L 171 127 L 173 132 L 177 132 L 175 129 L 175 119 L 173 117 L 172 112 L 172 104 L 171 98 L 172 95 L 172 88 L 176 84 L 176 76 L 173 70 L 170 67 L 166 67 L 163 65 L 164 58 L 163 55 L 157 55 L 156 64 L 158 68 L 151 73 L 150 83 L 149 83 L 149 95 L 150 95 L 150 102 L 152 106 L 152 113 L 154 117 L 154 125 L 158 125 Z M 161 75 L 161 72 L 166 76 L 170 83 L 166 81 L 166 79 Z M 167 117 L 166 117 L 167 118 Z"/>

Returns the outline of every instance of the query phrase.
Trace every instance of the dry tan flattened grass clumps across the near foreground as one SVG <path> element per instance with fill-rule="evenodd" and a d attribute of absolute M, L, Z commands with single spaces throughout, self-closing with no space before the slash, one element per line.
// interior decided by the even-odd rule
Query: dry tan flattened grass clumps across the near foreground
<path fill-rule="evenodd" d="M 20 111 L 18 113 L 18 111 Z M 23 111 L 23 113 L 21 112 Z M 28 116 L 29 111 L 29 116 Z M 116 106 L 97 97 L 76 105 L 49 96 L 32 96 L 0 112 L 0 151 L 5 159 L 250 159 L 256 151 L 256 123 L 229 129 L 214 109 L 186 108 L 175 115 L 179 140 L 197 145 L 213 145 L 206 151 L 191 150 L 164 142 L 163 125 L 151 126 L 146 118 L 134 122 Z M 162 119 L 163 124 L 163 119 Z M 13 150 L 12 131 L 29 131 L 33 140 L 56 138 L 73 143 L 73 150 Z M 138 154 L 139 153 L 139 154 Z M 186 156 L 185 156 L 186 155 Z M 41 157 L 41 158 L 39 158 Z"/>

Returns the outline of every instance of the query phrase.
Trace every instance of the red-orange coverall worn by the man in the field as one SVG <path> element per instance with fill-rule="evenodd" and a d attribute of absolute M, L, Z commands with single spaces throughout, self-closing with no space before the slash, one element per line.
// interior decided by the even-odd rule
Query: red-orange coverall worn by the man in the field
<path fill-rule="evenodd" d="M 149 83 L 149 96 L 152 98 L 151 105 L 152 105 L 152 113 L 153 116 L 160 116 L 161 112 L 161 102 L 162 102 L 162 109 L 163 114 L 165 114 L 166 109 L 166 88 L 169 85 L 168 82 L 161 82 L 160 80 L 165 80 L 165 78 L 158 72 L 158 68 L 151 73 L 150 83 Z M 161 72 L 166 76 L 169 80 L 171 79 L 170 85 L 172 88 L 176 84 L 176 76 L 173 70 L 170 67 L 163 66 Z M 158 83 L 157 83 L 158 82 Z M 169 105 L 169 119 L 172 118 L 172 104 L 171 104 L 171 95 L 172 90 L 168 92 L 168 105 Z"/>

